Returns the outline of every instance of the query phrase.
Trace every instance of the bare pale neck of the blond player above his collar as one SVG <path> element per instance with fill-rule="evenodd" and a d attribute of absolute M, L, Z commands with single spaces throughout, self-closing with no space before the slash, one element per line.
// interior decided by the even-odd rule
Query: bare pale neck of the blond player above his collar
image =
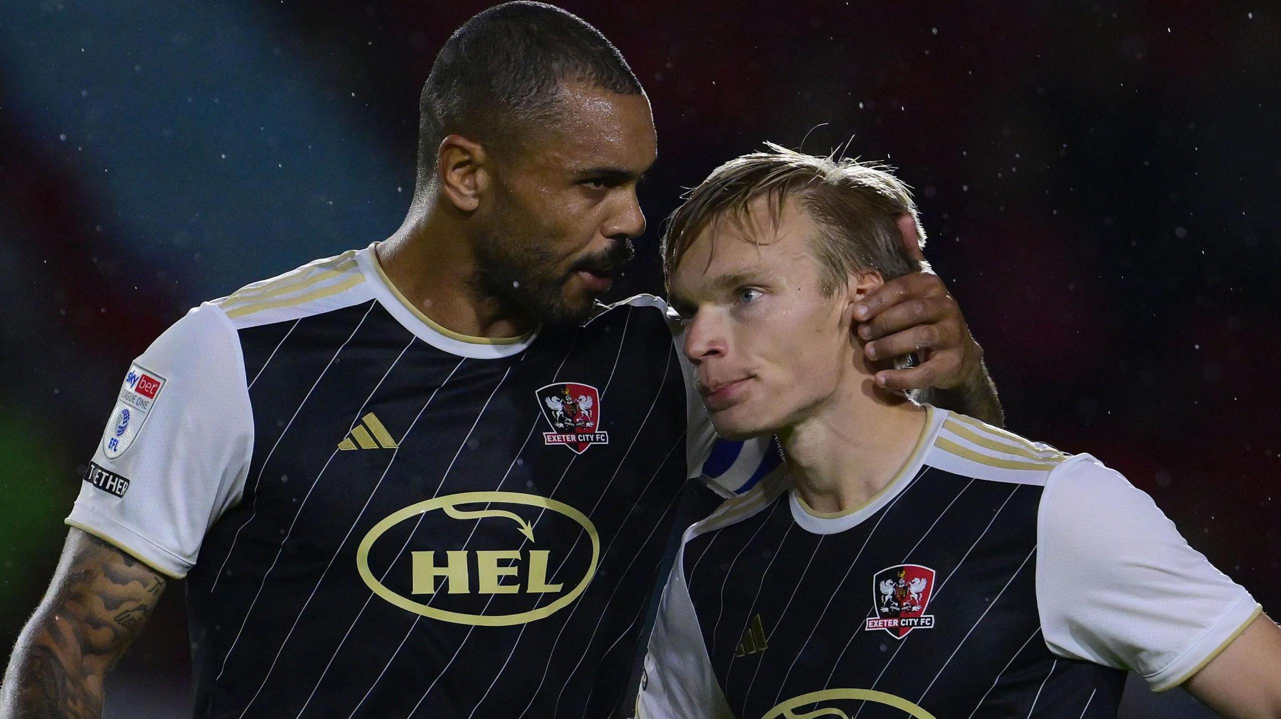
<path fill-rule="evenodd" d="M 863 383 L 860 383 L 863 384 Z M 780 432 L 792 485 L 815 512 L 845 513 L 885 489 L 911 461 L 927 412 L 861 389 Z"/>

